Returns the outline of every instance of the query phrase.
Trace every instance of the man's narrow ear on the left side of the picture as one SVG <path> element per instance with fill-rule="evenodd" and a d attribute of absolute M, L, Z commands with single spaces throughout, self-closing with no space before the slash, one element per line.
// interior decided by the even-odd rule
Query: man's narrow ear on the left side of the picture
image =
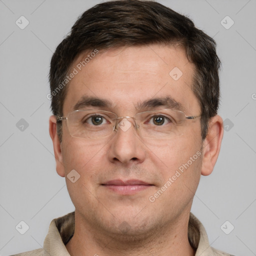
<path fill-rule="evenodd" d="M 61 143 L 59 142 L 57 135 L 57 124 L 55 115 L 51 115 L 49 118 L 49 133 L 53 143 L 54 156 L 56 160 L 56 171 L 59 176 L 64 177 L 65 170 L 62 160 Z"/>

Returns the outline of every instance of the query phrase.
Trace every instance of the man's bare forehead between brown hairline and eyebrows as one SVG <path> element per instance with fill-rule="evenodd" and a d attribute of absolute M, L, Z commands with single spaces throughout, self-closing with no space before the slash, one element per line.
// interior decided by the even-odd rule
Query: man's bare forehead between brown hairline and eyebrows
<path fill-rule="evenodd" d="M 184 111 L 198 110 L 191 89 L 194 67 L 181 47 L 153 44 L 86 52 L 78 56 L 74 69 L 63 113 L 85 97 L 106 100 L 108 110 L 115 112 L 131 113 L 145 100 L 164 97 L 180 103 Z"/>

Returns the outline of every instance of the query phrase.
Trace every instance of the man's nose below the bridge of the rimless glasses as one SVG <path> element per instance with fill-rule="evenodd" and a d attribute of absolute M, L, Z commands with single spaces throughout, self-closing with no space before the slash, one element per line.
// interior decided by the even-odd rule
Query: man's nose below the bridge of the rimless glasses
<path fill-rule="evenodd" d="M 145 159 L 145 145 L 135 129 L 135 121 L 128 116 L 122 117 L 110 142 L 108 159 L 115 164 L 141 163 Z"/>

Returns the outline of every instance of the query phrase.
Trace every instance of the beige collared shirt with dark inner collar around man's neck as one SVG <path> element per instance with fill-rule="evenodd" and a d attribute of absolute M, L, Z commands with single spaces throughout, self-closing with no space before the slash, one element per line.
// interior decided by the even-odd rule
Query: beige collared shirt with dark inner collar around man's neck
<path fill-rule="evenodd" d="M 23 252 L 11 256 L 70 256 L 65 244 L 74 233 L 74 212 L 55 218 L 50 222 L 43 248 Z M 195 256 L 233 256 L 210 247 L 208 237 L 202 223 L 190 213 L 188 223 L 188 239 L 196 250 Z"/>

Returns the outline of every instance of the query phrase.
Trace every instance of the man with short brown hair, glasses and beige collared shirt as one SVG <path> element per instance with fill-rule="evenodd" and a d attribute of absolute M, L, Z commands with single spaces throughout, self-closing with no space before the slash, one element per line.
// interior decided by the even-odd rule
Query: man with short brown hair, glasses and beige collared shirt
<path fill-rule="evenodd" d="M 160 3 L 85 11 L 49 74 L 56 170 L 75 211 L 17 255 L 230 255 L 190 213 L 223 134 L 219 64 L 214 40 Z"/>

